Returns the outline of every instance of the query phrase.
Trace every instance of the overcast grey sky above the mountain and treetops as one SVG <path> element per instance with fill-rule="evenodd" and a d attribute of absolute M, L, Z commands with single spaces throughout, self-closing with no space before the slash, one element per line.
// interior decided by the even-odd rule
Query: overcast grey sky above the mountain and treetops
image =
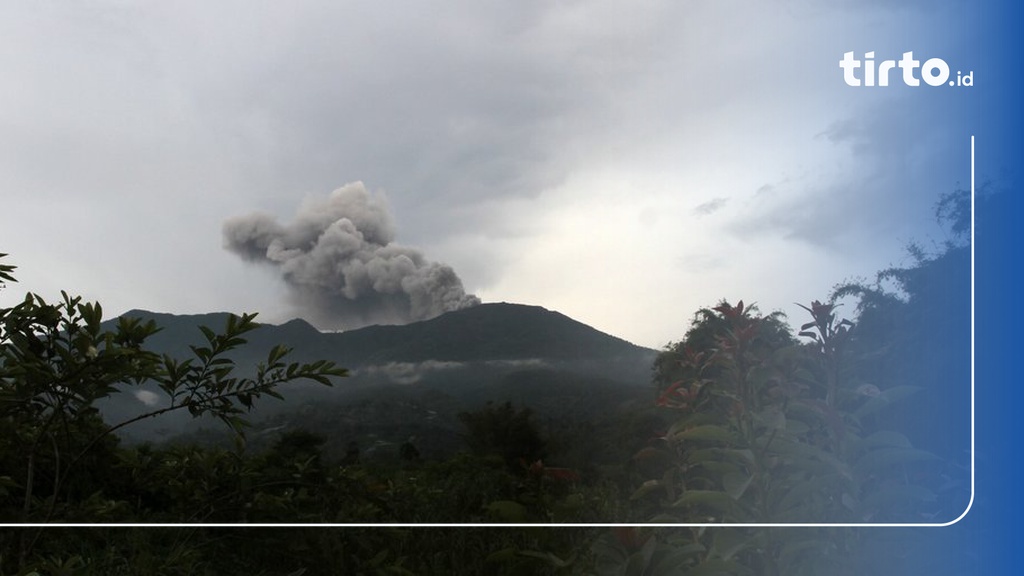
<path fill-rule="evenodd" d="M 331 290 L 461 282 L 652 347 L 723 297 L 796 315 L 944 240 L 972 89 L 853 88 L 839 60 L 972 69 L 972 33 L 935 32 L 977 28 L 970 6 L 5 3 L 0 304 L 68 289 L 339 328 L 463 294 L 359 316 Z M 371 256 L 325 269 L 339 246 Z"/>

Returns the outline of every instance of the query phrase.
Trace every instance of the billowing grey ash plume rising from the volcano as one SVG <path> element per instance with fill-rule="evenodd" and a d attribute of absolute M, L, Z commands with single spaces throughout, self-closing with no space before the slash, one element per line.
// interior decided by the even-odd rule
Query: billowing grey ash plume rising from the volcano
<path fill-rule="evenodd" d="M 451 266 L 394 243 L 386 199 L 362 182 L 306 201 L 291 222 L 257 212 L 225 220 L 223 233 L 231 252 L 276 268 L 293 303 L 323 329 L 403 324 L 480 303 Z"/>

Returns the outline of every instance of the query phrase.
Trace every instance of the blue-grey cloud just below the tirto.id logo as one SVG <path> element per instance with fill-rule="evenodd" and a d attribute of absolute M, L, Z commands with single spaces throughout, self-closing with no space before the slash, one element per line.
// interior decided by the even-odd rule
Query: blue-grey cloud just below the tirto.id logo
<path fill-rule="evenodd" d="M 847 157 L 839 177 L 810 170 L 766 183 L 730 229 L 845 249 L 930 234 L 938 196 L 970 176 L 968 131 L 957 138 L 935 122 L 948 106 L 897 96 L 834 122 L 816 139 Z"/>

